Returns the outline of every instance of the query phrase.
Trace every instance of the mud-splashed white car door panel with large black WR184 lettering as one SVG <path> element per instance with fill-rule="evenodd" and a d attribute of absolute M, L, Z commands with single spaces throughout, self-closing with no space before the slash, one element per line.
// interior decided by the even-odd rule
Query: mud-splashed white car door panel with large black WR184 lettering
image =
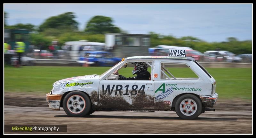
<path fill-rule="evenodd" d="M 100 110 L 151 111 L 154 102 L 152 80 L 100 80 Z"/>

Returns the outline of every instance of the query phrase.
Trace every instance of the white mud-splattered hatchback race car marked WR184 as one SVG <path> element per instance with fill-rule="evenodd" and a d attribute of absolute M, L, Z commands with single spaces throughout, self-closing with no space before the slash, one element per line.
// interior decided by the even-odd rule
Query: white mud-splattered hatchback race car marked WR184
<path fill-rule="evenodd" d="M 134 62 L 147 63 L 149 80 L 118 80 L 114 72 Z M 205 111 L 215 111 L 210 109 L 218 98 L 215 88 L 215 79 L 193 58 L 136 56 L 123 59 L 101 75 L 56 81 L 46 100 L 51 109 L 63 107 L 71 117 L 94 111 L 165 110 L 176 111 L 182 119 L 195 119 Z"/>

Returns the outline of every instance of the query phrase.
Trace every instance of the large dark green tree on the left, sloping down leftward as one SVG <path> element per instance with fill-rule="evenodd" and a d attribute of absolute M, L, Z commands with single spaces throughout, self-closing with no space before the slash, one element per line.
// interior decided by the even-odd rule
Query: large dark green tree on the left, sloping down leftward
<path fill-rule="evenodd" d="M 78 23 L 74 20 L 73 12 L 66 12 L 58 16 L 52 16 L 39 26 L 40 31 L 49 28 L 78 30 Z"/>

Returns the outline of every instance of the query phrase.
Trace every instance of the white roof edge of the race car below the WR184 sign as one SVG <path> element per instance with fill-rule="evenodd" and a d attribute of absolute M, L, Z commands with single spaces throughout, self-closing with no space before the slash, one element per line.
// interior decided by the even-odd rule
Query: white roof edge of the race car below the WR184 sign
<path fill-rule="evenodd" d="M 173 56 L 135 56 L 135 57 L 128 57 L 125 58 L 126 60 L 132 59 L 168 59 L 168 60 L 188 60 L 194 61 L 194 58 L 191 57 L 173 57 Z"/>

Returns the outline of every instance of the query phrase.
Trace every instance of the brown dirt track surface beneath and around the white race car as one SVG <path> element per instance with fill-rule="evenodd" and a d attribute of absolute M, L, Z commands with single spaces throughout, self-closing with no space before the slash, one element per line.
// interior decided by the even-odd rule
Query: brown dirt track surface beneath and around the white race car
<path fill-rule="evenodd" d="M 219 99 L 214 108 L 196 120 L 172 111 L 96 111 L 73 118 L 63 108 L 49 109 L 45 95 L 5 93 L 4 125 L 67 125 L 68 134 L 252 134 L 252 101 Z"/>

